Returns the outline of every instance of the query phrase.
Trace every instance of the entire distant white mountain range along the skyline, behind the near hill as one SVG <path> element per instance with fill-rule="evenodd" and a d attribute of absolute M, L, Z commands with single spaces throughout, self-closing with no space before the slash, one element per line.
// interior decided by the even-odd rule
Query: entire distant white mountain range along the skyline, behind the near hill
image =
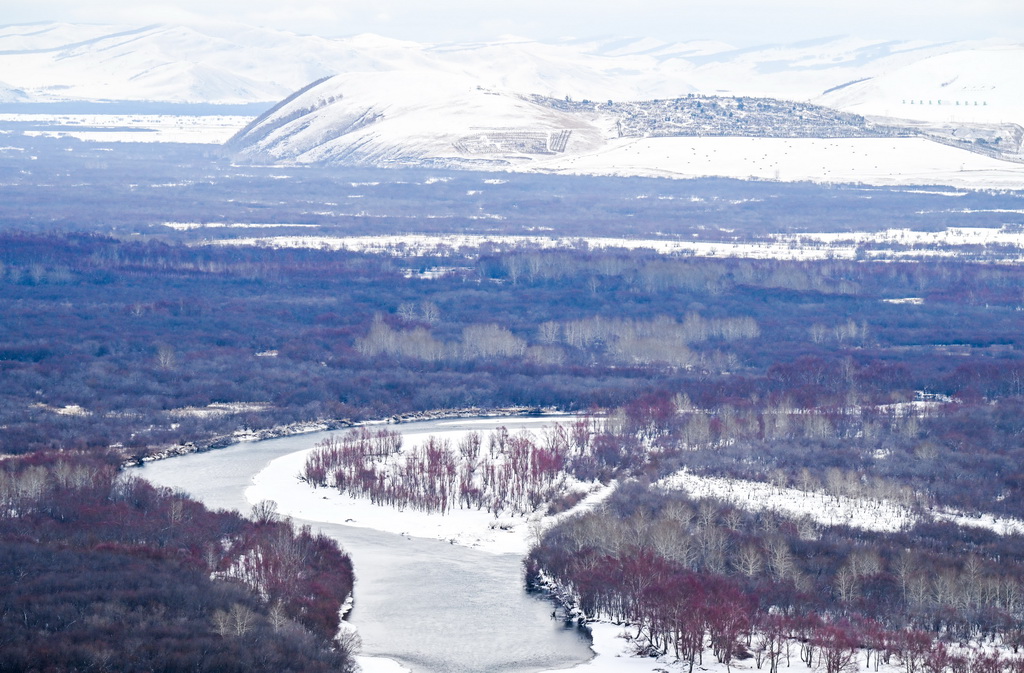
<path fill-rule="evenodd" d="M 0 27 L 0 81 L 35 101 L 270 104 L 331 75 L 406 72 L 577 100 L 757 95 L 923 121 L 1019 123 L 1022 65 L 1022 45 L 846 37 L 737 49 L 623 38 L 420 44 L 227 24 Z M 927 104 L 939 99 L 942 106 Z M 948 100 L 970 110 L 947 109 Z"/>

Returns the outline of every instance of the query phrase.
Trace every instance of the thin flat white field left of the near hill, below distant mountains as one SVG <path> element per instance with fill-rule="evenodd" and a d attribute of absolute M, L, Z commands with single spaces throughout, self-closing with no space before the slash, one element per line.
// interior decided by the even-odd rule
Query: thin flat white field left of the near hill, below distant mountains
<path fill-rule="evenodd" d="M 96 142 L 222 144 L 252 121 L 242 115 L 47 115 L 0 114 L 4 123 L 31 124 L 27 135 Z"/>

